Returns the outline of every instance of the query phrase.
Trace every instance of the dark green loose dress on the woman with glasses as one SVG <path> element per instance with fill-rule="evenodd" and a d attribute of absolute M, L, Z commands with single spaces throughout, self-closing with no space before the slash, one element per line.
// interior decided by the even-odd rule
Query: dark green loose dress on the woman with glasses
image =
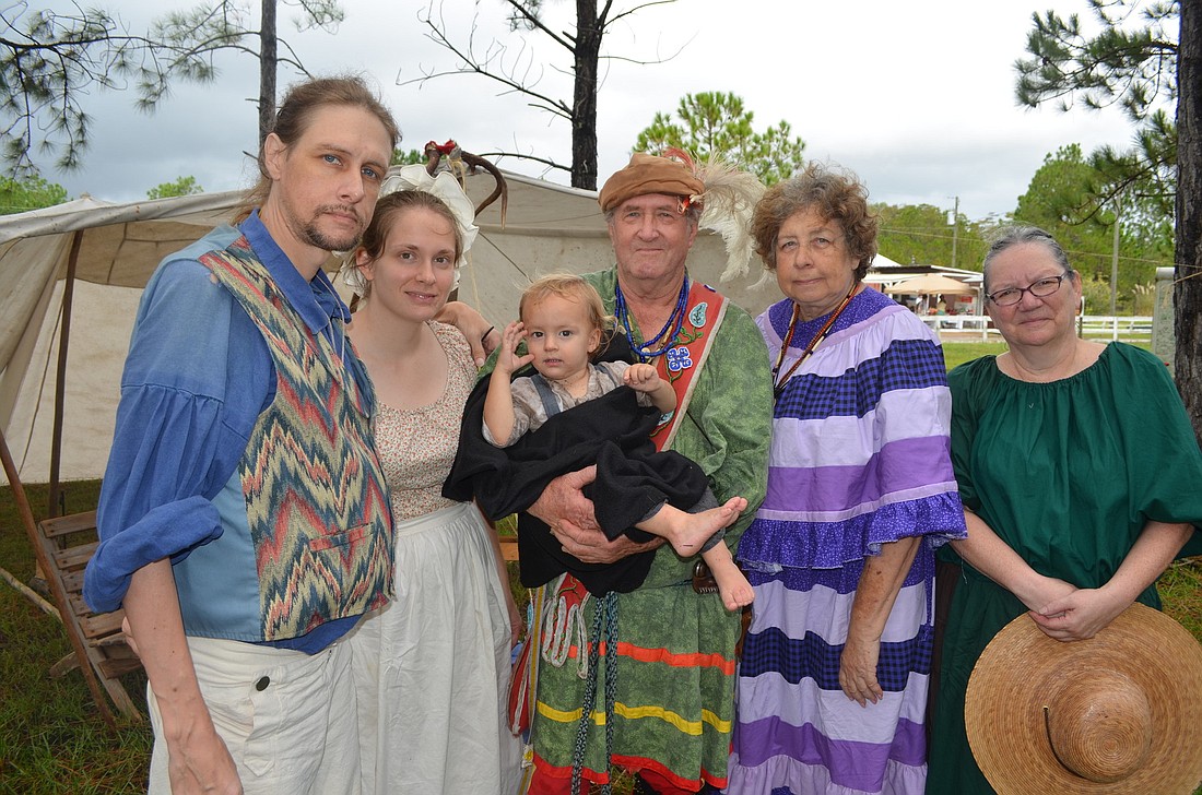
<path fill-rule="evenodd" d="M 1090 367 L 1052 383 L 1016 381 L 986 357 L 947 381 L 964 507 L 1036 572 L 1099 587 L 1149 520 L 1190 522 L 1198 540 L 1202 453 L 1156 357 L 1115 342 Z M 964 574 L 944 635 L 927 793 L 992 793 L 969 748 L 964 692 L 986 645 L 1027 608 L 950 545 L 940 557 Z M 1138 602 L 1159 609 L 1155 586 Z"/>

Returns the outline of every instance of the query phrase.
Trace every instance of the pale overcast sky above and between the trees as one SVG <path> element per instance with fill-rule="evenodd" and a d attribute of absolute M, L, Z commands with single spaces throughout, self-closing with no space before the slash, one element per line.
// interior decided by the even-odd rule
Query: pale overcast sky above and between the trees
<path fill-rule="evenodd" d="M 177 0 L 106 5 L 119 7 L 133 31 L 165 10 L 190 7 Z M 575 4 L 546 5 L 553 29 L 571 26 Z M 518 150 L 570 163 L 567 124 L 518 95 L 498 96 L 498 84 L 483 77 L 406 83 L 423 70 L 454 66 L 418 20 L 428 5 L 343 0 L 343 7 L 346 20 L 337 34 L 297 34 L 294 10 L 281 4 L 280 32 L 315 73 L 373 76 L 400 122 L 403 148 L 454 138 L 469 151 Z M 478 50 L 495 37 L 508 48 L 507 62 L 518 59 L 528 74 L 542 74 L 540 91 L 570 101 L 566 50 L 541 34 L 507 32 L 500 7 L 499 0 L 447 0 L 441 17 L 453 40 L 465 43 L 478 12 Z M 678 54 L 662 64 L 602 65 L 601 180 L 625 165 L 656 110 L 674 110 L 689 92 L 733 91 L 755 112 L 757 130 L 787 120 L 808 157 L 857 172 L 873 201 L 950 210 L 959 197 L 970 219 L 1012 211 L 1046 154 L 1069 143 L 1087 153 L 1126 147 L 1132 135 L 1117 110 L 1016 106 L 1013 61 L 1024 54 L 1031 13 L 1049 7 L 1079 12 L 1093 26 L 1085 0 L 678 0 L 643 8 L 619 23 L 606 52 L 643 61 Z M 242 153 L 256 144 L 257 65 L 227 53 L 219 66 L 215 84 L 177 83 L 154 115 L 133 110 L 132 91 L 85 97 L 93 136 L 84 168 L 67 174 L 42 163 L 43 175 L 73 197 L 88 192 L 109 201 L 144 198 L 180 175 L 196 177 L 207 191 L 246 186 L 252 174 Z M 281 67 L 281 90 L 296 79 Z M 501 166 L 569 183 L 566 173 L 534 163 Z"/>

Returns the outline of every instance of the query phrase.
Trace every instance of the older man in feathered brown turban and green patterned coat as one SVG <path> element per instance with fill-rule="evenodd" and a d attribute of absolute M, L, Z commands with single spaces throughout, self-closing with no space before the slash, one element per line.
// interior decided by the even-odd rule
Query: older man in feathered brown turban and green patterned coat
<path fill-rule="evenodd" d="M 719 502 L 748 500 L 726 534 L 733 548 L 764 496 L 772 382 L 748 313 L 685 268 L 704 193 L 685 163 L 636 154 L 600 195 L 617 267 L 585 277 L 636 354 L 677 390 L 674 422 L 656 443 L 696 461 Z M 529 510 L 566 551 L 600 563 L 662 543 L 606 539 L 579 491 L 589 477 L 553 482 Z M 660 546 L 639 588 L 583 610 L 571 576 L 545 587 L 540 624 L 548 615 L 566 620 L 551 622 L 540 641 L 530 793 L 567 793 L 573 767 L 576 777 L 606 782 L 611 761 L 637 771 L 642 791 L 725 787 L 739 615 L 716 593 L 695 592 L 694 563 Z M 573 642 L 584 632 L 588 647 Z"/>

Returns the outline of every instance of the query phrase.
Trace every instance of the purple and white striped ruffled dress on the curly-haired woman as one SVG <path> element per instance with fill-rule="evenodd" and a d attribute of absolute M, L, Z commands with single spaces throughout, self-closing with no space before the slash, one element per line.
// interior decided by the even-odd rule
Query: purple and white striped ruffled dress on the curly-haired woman
<path fill-rule="evenodd" d="M 756 323 L 775 361 L 792 303 Z M 798 323 L 781 372 L 827 317 Z M 739 542 L 755 586 L 738 673 L 732 795 L 923 791 L 934 550 L 963 538 L 938 337 L 874 289 L 856 295 L 776 401 L 768 496 Z M 881 639 L 885 698 L 861 707 L 839 656 L 864 558 L 923 536 Z"/>

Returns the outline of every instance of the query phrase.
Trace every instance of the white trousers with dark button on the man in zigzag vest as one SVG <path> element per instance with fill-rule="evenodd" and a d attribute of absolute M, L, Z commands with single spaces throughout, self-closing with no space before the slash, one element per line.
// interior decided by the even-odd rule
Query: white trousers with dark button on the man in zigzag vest
<path fill-rule="evenodd" d="M 237 640 L 189 638 L 201 694 L 246 795 L 358 795 L 359 741 L 345 640 L 316 654 Z M 154 692 L 151 795 L 171 793 Z"/>

